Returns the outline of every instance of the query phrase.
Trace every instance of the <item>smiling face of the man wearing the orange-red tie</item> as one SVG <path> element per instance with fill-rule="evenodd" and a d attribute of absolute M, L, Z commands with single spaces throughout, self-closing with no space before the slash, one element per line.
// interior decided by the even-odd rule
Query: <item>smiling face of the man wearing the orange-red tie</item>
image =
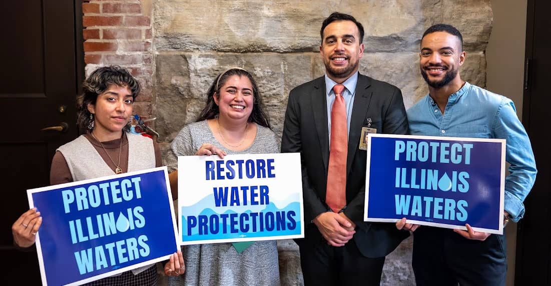
<path fill-rule="evenodd" d="M 358 72 L 360 58 L 364 55 L 364 44 L 360 43 L 356 24 L 349 20 L 338 20 L 327 25 L 323 30 L 320 53 L 327 76 L 336 83 L 342 83 Z"/>

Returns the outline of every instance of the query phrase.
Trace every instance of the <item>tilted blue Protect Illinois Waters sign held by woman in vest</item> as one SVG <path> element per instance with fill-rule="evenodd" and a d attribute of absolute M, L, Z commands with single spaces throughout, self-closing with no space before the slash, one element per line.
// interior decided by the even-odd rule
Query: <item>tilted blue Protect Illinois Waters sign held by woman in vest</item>
<path fill-rule="evenodd" d="M 79 285 L 179 249 L 166 167 L 27 190 L 42 284 Z"/>

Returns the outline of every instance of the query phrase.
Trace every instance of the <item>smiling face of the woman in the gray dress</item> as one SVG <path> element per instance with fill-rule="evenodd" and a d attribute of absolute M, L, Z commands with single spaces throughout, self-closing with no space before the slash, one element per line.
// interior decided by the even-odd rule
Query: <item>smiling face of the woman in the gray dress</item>
<path fill-rule="evenodd" d="M 214 95 L 214 102 L 218 105 L 220 117 L 248 120 L 254 103 L 251 81 L 246 76 L 230 76 L 220 87 L 220 94 Z"/>

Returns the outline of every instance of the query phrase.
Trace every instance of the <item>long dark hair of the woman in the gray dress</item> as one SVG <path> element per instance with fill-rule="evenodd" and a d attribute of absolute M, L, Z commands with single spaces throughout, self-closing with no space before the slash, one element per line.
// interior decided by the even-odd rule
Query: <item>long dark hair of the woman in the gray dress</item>
<path fill-rule="evenodd" d="M 216 105 L 216 103 L 214 102 L 214 94 L 217 94 L 218 98 L 220 98 L 220 88 L 224 86 L 230 76 L 233 75 L 246 76 L 251 81 L 253 105 L 251 115 L 249 116 L 249 122 L 254 122 L 266 128 L 272 128 L 270 125 L 270 119 L 267 113 L 264 112 L 264 104 L 262 103 L 260 91 L 258 91 L 258 86 L 256 85 L 255 79 L 252 78 L 252 75 L 249 72 L 241 68 L 228 69 L 222 74 L 219 74 L 214 79 L 214 82 L 212 83 L 212 85 L 210 85 L 210 88 L 208 89 L 207 105 L 203 108 L 201 114 L 199 114 L 197 121 L 199 122 L 206 119 L 213 119 L 218 116 L 218 114 L 220 113 L 220 109 L 218 108 L 218 105 Z"/>

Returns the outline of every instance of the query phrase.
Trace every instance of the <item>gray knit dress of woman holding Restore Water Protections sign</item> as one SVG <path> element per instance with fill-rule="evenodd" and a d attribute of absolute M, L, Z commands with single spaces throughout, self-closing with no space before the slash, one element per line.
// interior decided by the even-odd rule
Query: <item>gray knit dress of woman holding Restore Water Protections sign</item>
<path fill-rule="evenodd" d="M 215 138 L 207 121 L 187 125 L 172 141 L 166 158 L 169 171 L 177 168 L 177 156 L 195 155 L 204 143 L 216 145 L 228 154 L 279 153 L 276 134 L 257 125 L 251 147 L 235 152 Z M 279 285 L 278 252 L 275 240 L 256 241 L 241 254 L 231 243 L 182 246 L 186 273 L 170 277 L 169 285 Z"/>

